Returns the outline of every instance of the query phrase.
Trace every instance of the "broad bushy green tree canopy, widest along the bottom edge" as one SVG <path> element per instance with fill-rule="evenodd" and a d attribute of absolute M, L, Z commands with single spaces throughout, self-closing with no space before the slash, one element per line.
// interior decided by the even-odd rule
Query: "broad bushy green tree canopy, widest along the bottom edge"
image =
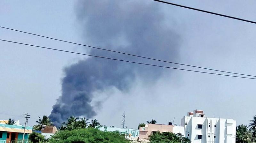
<path fill-rule="evenodd" d="M 56 133 L 51 143 L 129 143 L 124 134 L 119 132 L 102 132 L 95 128 L 64 130 Z"/>

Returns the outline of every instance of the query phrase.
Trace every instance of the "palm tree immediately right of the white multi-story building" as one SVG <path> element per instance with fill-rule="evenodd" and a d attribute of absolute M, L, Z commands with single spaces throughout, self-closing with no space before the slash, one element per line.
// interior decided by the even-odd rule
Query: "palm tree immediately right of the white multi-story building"
<path fill-rule="evenodd" d="M 236 127 L 236 143 L 251 143 L 252 132 L 248 130 L 246 125 L 238 125 Z"/>

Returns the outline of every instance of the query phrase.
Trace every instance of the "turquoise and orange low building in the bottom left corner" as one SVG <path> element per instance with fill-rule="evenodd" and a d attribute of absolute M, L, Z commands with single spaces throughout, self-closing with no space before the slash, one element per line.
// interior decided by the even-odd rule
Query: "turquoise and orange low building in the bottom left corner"
<path fill-rule="evenodd" d="M 5 120 L 2 120 L 5 121 Z M 21 142 L 24 132 L 24 126 L 19 121 L 15 125 L 6 124 L 0 121 L 0 143 Z M 24 142 L 28 142 L 28 134 L 32 133 L 32 127 L 27 126 L 25 130 Z"/>

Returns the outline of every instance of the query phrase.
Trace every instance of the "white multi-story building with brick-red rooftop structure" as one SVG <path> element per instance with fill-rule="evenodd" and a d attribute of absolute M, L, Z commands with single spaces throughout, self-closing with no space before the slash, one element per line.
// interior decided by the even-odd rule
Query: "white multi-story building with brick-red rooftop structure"
<path fill-rule="evenodd" d="M 208 118 L 202 110 L 194 110 L 181 119 L 181 126 L 182 135 L 192 143 L 236 143 L 233 119 Z"/>

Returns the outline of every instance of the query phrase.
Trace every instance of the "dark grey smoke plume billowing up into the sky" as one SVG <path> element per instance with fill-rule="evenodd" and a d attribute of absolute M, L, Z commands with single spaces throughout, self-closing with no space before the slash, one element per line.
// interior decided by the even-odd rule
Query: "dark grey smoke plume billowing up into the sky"
<path fill-rule="evenodd" d="M 164 14 L 156 3 L 85 0 L 78 2 L 76 14 L 85 41 L 95 46 L 158 59 L 178 58 L 180 38 L 164 26 Z M 90 54 L 156 64 L 95 49 L 90 50 Z M 104 92 L 111 87 L 129 92 L 136 77 L 145 83 L 154 83 L 163 69 L 89 57 L 66 67 L 64 73 L 62 95 L 50 115 L 57 126 L 71 115 L 94 117 L 96 112 L 91 105 L 94 92 Z"/>

